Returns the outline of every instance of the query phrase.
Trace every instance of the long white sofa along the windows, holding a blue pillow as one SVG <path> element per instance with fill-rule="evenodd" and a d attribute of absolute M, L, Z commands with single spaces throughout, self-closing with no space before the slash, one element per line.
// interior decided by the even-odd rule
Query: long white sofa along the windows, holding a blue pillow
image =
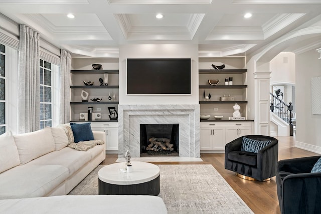
<path fill-rule="evenodd" d="M 105 133 L 93 131 L 95 140 Z M 0 199 L 65 195 L 105 159 L 105 145 L 67 147 L 64 129 L 0 135 Z"/>

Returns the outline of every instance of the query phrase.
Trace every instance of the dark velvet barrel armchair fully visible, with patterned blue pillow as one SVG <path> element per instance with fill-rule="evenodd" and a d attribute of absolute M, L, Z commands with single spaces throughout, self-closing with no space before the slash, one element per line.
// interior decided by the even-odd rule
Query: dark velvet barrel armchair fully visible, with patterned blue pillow
<path fill-rule="evenodd" d="M 259 141 L 271 141 L 257 153 L 242 151 L 243 137 Z M 239 137 L 225 146 L 225 169 L 236 172 L 239 176 L 263 181 L 275 176 L 278 155 L 278 140 L 264 135 L 246 135 Z"/>

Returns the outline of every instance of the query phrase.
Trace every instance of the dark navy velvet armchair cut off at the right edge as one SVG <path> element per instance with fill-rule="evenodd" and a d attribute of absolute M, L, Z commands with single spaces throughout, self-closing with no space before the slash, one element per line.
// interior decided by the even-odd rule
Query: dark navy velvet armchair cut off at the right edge
<path fill-rule="evenodd" d="M 321 172 L 311 173 L 320 157 L 277 163 L 276 189 L 281 213 L 321 213 Z"/>

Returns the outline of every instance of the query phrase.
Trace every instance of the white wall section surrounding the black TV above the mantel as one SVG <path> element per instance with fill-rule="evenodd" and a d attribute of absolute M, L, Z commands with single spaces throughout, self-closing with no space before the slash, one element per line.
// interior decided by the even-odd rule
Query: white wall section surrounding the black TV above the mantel
<path fill-rule="evenodd" d="M 192 95 L 127 95 L 127 58 L 191 58 Z M 123 45 L 119 47 L 119 104 L 198 104 L 198 45 Z"/>

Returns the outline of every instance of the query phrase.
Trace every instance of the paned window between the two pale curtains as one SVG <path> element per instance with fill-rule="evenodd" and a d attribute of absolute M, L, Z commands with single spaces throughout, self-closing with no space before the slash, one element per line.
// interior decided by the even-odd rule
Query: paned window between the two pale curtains
<path fill-rule="evenodd" d="M 51 63 L 40 60 L 40 129 L 52 126 L 52 107 Z"/>

